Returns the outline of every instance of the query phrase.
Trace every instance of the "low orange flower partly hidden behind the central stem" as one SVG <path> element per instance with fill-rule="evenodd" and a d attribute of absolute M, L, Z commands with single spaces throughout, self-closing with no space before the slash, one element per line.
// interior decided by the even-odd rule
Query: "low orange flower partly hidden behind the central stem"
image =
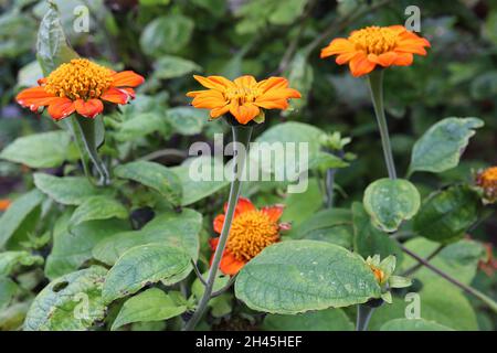
<path fill-rule="evenodd" d="M 224 205 L 226 212 L 228 205 Z M 220 269 L 224 275 L 236 275 L 242 267 L 261 253 L 265 247 L 279 242 L 279 231 L 288 229 L 288 225 L 279 224 L 283 206 L 275 205 L 257 210 L 247 199 L 240 197 L 228 236 L 226 247 L 221 259 Z M 214 231 L 221 234 L 224 214 L 214 220 Z M 212 238 L 212 259 L 219 238 Z"/>

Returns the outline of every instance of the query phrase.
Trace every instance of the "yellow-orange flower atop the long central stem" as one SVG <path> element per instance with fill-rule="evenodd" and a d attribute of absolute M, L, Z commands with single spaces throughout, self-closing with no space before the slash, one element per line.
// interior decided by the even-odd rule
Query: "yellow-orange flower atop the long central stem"
<path fill-rule="evenodd" d="M 250 75 L 233 82 L 222 76 L 193 77 L 209 88 L 187 94 L 193 97 L 193 107 L 211 109 L 212 118 L 231 113 L 243 125 L 261 116 L 264 113 L 262 109 L 285 110 L 289 98 L 300 98 L 300 93 L 289 88 L 284 77 L 269 77 L 261 82 Z"/>

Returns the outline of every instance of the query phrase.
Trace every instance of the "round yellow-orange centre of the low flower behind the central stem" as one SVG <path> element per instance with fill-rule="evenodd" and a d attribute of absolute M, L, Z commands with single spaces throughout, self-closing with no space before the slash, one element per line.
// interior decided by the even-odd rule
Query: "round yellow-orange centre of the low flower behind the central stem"
<path fill-rule="evenodd" d="M 250 260 L 279 239 L 278 225 L 261 211 L 248 211 L 233 220 L 226 248 L 239 260 Z"/>

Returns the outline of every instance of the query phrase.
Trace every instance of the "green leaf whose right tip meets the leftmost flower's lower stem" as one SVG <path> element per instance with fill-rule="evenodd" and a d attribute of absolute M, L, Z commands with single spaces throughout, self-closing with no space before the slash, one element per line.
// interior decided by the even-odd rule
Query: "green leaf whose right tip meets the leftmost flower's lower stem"
<path fill-rule="evenodd" d="M 78 206 L 88 197 L 109 194 L 109 190 L 97 189 L 82 176 L 57 178 L 44 173 L 35 173 L 33 176 L 39 190 L 63 205 Z"/>

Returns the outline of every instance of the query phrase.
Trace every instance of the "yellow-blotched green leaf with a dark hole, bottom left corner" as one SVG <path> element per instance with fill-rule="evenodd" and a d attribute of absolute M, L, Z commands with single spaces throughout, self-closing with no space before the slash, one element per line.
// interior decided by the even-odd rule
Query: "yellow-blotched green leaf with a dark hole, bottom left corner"
<path fill-rule="evenodd" d="M 93 266 L 60 277 L 34 299 L 25 331 L 82 331 L 105 317 L 102 287 L 107 270 Z"/>

